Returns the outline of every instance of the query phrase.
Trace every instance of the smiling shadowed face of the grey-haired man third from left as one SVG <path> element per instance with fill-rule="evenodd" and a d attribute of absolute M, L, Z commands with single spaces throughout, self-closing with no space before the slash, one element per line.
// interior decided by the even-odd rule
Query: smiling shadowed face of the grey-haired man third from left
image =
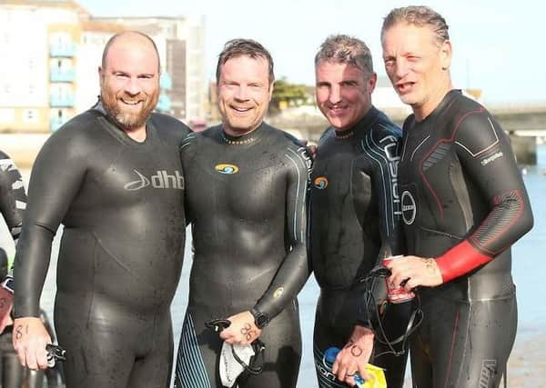
<path fill-rule="evenodd" d="M 321 61 L 315 75 L 317 104 L 333 127 L 349 129 L 369 111 L 375 73 L 364 72 L 356 65 Z"/>

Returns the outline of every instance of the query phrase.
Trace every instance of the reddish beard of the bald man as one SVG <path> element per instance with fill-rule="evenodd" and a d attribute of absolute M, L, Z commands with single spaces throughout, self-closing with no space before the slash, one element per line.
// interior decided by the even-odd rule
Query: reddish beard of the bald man
<path fill-rule="evenodd" d="M 121 100 L 127 102 L 142 101 L 143 106 L 138 111 L 125 109 Z M 159 92 L 156 91 L 153 95 L 145 95 L 139 93 L 138 95 L 127 95 L 126 93 L 108 93 L 103 90 L 101 93 L 101 102 L 105 108 L 107 116 L 118 126 L 126 129 L 133 130 L 144 126 L 148 117 L 152 111 L 156 108 L 157 99 L 159 98 Z"/>

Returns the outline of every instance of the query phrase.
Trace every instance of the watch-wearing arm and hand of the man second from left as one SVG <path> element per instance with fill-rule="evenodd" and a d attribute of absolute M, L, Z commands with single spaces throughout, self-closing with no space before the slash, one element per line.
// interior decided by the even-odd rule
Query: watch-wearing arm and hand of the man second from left
<path fill-rule="evenodd" d="M 291 303 L 309 276 L 307 253 L 308 184 L 311 157 L 304 147 L 288 148 L 286 220 L 291 250 L 278 267 L 268 290 L 250 311 L 229 317 L 231 325 L 220 333 L 228 343 L 251 343 L 261 329 Z M 279 233 L 284 233 L 281 231 Z M 258 327 L 257 323 L 258 322 Z M 263 324 L 259 324 L 263 323 Z M 248 330 L 245 330 L 248 327 Z M 240 335 L 240 332 L 247 335 Z"/>

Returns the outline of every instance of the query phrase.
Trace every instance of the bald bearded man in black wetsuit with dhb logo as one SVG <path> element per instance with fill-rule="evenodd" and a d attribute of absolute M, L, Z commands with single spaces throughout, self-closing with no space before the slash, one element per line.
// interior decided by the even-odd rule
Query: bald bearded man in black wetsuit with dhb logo
<path fill-rule="evenodd" d="M 34 164 L 15 257 L 15 349 L 45 368 L 38 302 L 64 224 L 55 323 L 66 386 L 166 387 L 185 240 L 178 148 L 189 129 L 152 114 L 159 57 L 147 35 L 112 37 L 99 78 L 99 103 L 52 134 Z"/>

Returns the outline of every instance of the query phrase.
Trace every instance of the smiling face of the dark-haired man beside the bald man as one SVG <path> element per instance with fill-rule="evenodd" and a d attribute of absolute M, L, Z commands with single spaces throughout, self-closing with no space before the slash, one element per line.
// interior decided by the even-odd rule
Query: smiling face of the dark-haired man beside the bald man
<path fill-rule="evenodd" d="M 265 58 L 239 55 L 221 65 L 218 107 L 227 134 L 238 136 L 258 128 L 268 112 L 272 93 Z"/>

